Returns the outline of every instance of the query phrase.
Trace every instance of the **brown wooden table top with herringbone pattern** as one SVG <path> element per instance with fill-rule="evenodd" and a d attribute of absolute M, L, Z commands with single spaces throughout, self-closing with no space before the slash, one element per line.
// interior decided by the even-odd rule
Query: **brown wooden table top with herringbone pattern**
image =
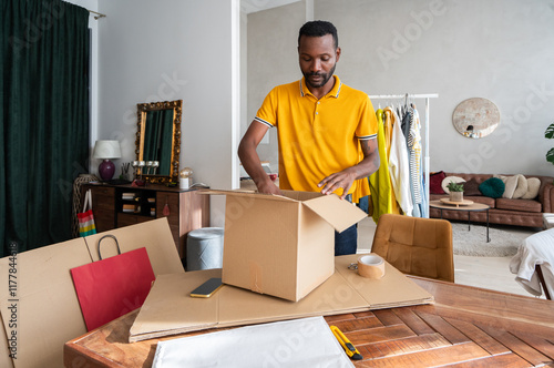
<path fill-rule="evenodd" d="M 554 366 L 554 301 L 410 278 L 435 304 L 325 317 L 363 356 L 356 367 Z M 65 367 L 151 367 L 157 341 L 213 331 L 130 344 L 136 314 L 66 343 Z"/>

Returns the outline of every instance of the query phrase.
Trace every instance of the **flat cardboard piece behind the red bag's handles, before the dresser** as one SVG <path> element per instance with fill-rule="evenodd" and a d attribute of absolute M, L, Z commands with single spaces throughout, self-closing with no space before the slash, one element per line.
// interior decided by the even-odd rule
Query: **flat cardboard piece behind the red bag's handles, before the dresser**
<path fill-rule="evenodd" d="M 145 247 L 154 275 L 185 272 L 175 247 L 167 217 L 86 236 L 84 241 L 93 262 L 100 259 L 98 244 L 100 238 L 107 234 L 117 238 L 121 253 Z M 101 252 L 104 259 L 117 255 L 115 242 L 111 238 L 102 241 Z"/>

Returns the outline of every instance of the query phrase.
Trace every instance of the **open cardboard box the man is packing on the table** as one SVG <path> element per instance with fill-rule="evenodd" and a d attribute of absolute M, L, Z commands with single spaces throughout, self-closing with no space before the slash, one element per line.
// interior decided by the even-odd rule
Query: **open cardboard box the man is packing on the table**
<path fill-rule="evenodd" d="M 367 217 L 335 194 L 226 195 L 223 282 L 298 301 L 335 272 L 335 231 Z"/>

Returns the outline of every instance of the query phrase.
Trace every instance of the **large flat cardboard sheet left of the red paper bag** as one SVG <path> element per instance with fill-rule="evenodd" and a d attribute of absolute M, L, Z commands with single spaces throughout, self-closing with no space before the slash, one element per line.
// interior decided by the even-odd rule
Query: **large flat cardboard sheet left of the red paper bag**
<path fill-rule="evenodd" d="M 6 333 L 17 330 L 16 368 L 62 367 L 63 344 L 86 333 L 70 269 L 89 263 L 83 238 L 18 254 L 17 294 L 10 295 L 8 275 L 13 267 L 9 257 L 0 259 L 0 283 L 6 285 L 0 287 L 0 310 Z M 10 327 L 13 304 L 17 328 Z"/>

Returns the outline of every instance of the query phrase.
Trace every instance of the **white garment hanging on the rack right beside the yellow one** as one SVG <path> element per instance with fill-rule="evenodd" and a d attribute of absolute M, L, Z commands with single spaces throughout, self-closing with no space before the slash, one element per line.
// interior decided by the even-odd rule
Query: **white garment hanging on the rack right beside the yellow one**
<path fill-rule="evenodd" d="M 408 147 L 402 133 L 402 123 L 394 110 L 389 109 L 392 134 L 389 155 L 389 173 L 394 197 L 407 216 L 412 215 L 413 203 L 410 191 L 410 163 Z M 384 110 L 387 112 L 387 109 Z"/>

